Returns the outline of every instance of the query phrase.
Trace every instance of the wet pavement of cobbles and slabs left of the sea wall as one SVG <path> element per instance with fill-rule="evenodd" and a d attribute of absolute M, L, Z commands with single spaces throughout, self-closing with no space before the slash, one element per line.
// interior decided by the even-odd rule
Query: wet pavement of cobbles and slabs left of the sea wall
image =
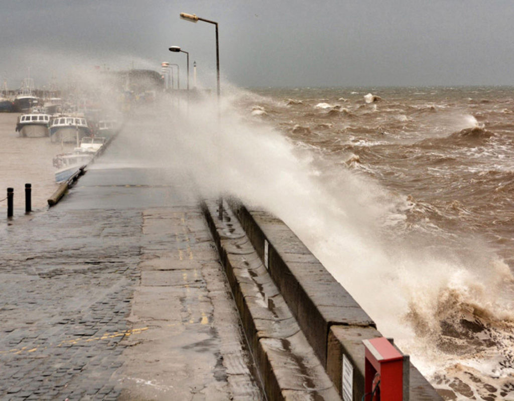
<path fill-rule="evenodd" d="M 102 168 L 112 147 L 0 229 L 0 399 L 262 399 L 187 180 Z"/>

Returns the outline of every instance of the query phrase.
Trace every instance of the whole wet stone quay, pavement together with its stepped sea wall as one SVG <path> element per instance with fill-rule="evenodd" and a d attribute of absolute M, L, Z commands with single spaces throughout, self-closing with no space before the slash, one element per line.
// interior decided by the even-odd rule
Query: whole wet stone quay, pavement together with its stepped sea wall
<path fill-rule="evenodd" d="M 279 218 L 122 138 L 0 230 L 0 399 L 442 399 Z"/>

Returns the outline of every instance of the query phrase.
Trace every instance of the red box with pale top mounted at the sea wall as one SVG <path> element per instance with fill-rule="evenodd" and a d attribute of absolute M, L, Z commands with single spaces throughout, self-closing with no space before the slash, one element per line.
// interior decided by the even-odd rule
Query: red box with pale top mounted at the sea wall
<path fill-rule="evenodd" d="M 362 342 L 366 358 L 364 366 L 365 400 L 407 401 L 409 387 L 408 383 L 407 386 L 404 386 L 403 383 L 404 356 L 385 337 Z M 408 357 L 406 360 L 408 361 Z M 408 366 L 406 369 L 408 370 Z"/>

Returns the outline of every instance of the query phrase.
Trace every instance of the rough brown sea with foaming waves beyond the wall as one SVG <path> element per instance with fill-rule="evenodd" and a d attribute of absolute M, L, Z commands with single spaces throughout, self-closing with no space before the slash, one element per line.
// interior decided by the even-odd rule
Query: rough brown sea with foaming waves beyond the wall
<path fill-rule="evenodd" d="M 236 102 L 333 197 L 313 211 L 324 232 L 286 223 L 446 399 L 514 399 L 513 94 L 269 88 Z"/>

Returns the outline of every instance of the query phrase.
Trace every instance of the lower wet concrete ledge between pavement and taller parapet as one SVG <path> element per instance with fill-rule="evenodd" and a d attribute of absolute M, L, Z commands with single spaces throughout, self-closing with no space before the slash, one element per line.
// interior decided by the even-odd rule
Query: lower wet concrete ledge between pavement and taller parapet
<path fill-rule="evenodd" d="M 269 400 L 341 400 L 279 289 L 230 210 L 203 210 Z"/>

